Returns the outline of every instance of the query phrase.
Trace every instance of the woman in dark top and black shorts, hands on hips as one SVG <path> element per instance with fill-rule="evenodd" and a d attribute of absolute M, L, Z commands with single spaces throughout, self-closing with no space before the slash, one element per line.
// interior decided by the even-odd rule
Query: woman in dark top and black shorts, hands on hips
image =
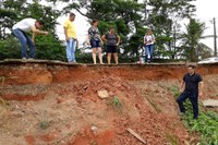
<path fill-rule="evenodd" d="M 110 64 L 111 53 L 113 55 L 116 64 L 118 64 L 118 49 L 117 47 L 120 44 L 120 36 L 116 34 L 113 27 L 109 28 L 109 32 L 106 33 L 101 39 L 107 43 L 107 60 L 108 64 Z"/>

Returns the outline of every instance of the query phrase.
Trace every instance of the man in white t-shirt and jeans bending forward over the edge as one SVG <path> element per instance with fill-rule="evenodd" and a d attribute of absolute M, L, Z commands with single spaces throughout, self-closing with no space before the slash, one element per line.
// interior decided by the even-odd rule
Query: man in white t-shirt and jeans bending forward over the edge
<path fill-rule="evenodd" d="M 28 45 L 29 50 L 31 50 L 31 57 L 29 59 L 35 58 L 35 36 L 37 34 L 41 35 L 48 35 L 48 32 L 43 32 L 39 31 L 44 27 L 45 23 L 39 20 L 34 20 L 34 19 L 24 19 L 13 25 L 12 27 L 12 33 L 15 35 L 15 37 L 19 38 L 21 43 L 21 51 L 22 51 L 22 59 L 26 59 L 26 45 Z M 33 36 L 32 38 L 27 35 L 27 33 L 32 32 Z"/>

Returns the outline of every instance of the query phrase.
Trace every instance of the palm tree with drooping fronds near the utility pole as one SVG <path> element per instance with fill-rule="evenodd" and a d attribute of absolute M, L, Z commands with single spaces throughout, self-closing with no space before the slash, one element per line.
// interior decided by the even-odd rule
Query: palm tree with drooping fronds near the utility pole
<path fill-rule="evenodd" d="M 199 43 L 205 31 L 205 23 L 195 19 L 190 19 L 190 23 L 185 25 L 185 27 L 186 33 L 181 36 L 182 46 L 180 48 L 184 52 L 186 59 L 196 62 L 199 56 L 202 58 L 209 57 L 211 50 L 206 45 Z M 204 56 L 204 53 L 206 56 Z"/>

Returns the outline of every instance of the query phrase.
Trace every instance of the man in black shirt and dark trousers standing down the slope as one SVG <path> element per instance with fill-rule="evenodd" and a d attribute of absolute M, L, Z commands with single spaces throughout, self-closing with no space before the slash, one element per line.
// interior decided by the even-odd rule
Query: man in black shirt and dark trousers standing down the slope
<path fill-rule="evenodd" d="M 185 86 L 185 87 L 184 87 Z M 184 90 L 183 90 L 184 87 Z M 183 90 L 183 92 L 182 92 Z M 180 88 L 182 94 L 177 99 L 181 114 L 185 112 L 183 101 L 189 98 L 193 107 L 193 119 L 198 117 L 198 96 L 203 95 L 203 78 L 195 72 L 194 65 L 187 67 L 187 73 L 183 76 L 183 82 Z"/>

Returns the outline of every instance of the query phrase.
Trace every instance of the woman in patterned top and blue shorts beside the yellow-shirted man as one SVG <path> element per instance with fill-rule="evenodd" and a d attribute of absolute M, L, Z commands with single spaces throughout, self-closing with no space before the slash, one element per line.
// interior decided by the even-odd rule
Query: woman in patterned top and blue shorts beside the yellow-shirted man
<path fill-rule="evenodd" d="M 88 28 L 88 37 L 87 37 L 87 44 L 90 45 L 93 49 L 93 61 L 94 64 L 96 64 L 96 51 L 98 50 L 98 59 L 100 61 L 100 64 L 102 63 L 102 55 L 101 55 L 101 45 L 104 45 L 101 38 L 100 38 L 100 32 L 98 31 L 98 21 L 93 20 L 92 27 Z"/>

